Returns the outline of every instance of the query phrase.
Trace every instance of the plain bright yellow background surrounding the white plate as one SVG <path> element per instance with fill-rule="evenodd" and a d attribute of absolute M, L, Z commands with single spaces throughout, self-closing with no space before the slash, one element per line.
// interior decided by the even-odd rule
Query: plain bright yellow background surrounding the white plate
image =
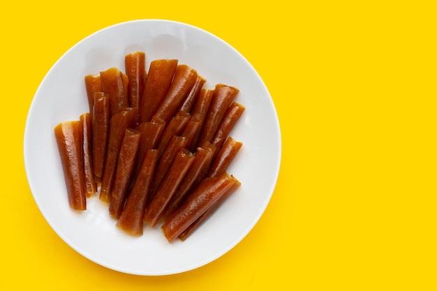
<path fill-rule="evenodd" d="M 437 290 L 430 3 L 3 3 L 0 290 Z M 272 94 L 283 142 L 259 223 L 223 257 L 172 276 L 121 274 L 73 251 L 24 172 L 27 110 L 54 62 L 99 29 L 147 18 L 193 24 L 239 50 Z"/>

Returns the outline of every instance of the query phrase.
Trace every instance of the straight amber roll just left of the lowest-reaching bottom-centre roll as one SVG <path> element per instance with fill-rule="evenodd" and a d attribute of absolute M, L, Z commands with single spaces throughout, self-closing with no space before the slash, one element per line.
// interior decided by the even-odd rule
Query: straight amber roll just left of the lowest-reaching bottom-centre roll
<path fill-rule="evenodd" d="M 140 137 L 141 133 L 138 130 L 128 128 L 121 142 L 109 206 L 110 216 L 114 218 L 119 218 L 123 210 L 135 167 Z"/>

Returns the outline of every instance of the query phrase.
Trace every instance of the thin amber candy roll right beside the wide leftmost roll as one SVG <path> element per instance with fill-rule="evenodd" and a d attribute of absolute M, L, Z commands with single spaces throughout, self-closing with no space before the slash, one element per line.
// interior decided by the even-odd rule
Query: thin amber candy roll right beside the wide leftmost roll
<path fill-rule="evenodd" d="M 91 114 L 89 112 L 80 114 L 80 122 L 82 124 L 82 156 L 84 160 L 84 181 L 85 193 L 87 197 L 91 197 L 97 192 L 97 184 L 94 179 L 94 159 L 93 159 L 93 127 L 91 122 Z"/>

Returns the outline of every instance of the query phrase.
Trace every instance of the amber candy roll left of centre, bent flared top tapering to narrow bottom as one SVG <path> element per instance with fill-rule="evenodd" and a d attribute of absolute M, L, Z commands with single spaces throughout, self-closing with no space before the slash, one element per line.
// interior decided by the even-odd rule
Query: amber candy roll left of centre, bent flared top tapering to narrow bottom
<path fill-rule="evenodd" d="M 103 169 L 101 191 L 98 196 L 102 201 L 110 202 L 121 142 L 123 142 L 126 129 L 132 128 L 137 111 L 138 109 L 136 108 L 130 108 L 129 110 L 114 114 L 111 118 L 108 151 L 105 159 L 105 168 Z"/>

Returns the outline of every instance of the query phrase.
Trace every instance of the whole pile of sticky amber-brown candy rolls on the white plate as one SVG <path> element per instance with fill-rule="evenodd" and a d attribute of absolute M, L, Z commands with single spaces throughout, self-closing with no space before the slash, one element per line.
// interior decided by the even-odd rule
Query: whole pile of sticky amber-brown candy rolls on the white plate
<path fill-rule="evenodd" d="M 145 225 L 187 239 L 241 185 L 228 168 L 242 147 L 232 128 L 245 107 L 239 89 L 207 80 L 178 59 L 145 52 L 86 75 L 89 112 L 55 126 L 68 202 L 86 210 L 98 193 L 124 232 Z"/>

